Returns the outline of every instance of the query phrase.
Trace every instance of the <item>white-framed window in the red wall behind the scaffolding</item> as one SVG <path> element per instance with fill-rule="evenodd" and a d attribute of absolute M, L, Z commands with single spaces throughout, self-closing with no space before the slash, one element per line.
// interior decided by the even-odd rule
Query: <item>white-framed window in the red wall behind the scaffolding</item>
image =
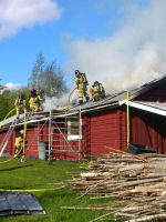
<path fill-rule="evenodd" d="M 68 119 L 68 140 L 82 139 L 82 122 L 79 117 Z"/>

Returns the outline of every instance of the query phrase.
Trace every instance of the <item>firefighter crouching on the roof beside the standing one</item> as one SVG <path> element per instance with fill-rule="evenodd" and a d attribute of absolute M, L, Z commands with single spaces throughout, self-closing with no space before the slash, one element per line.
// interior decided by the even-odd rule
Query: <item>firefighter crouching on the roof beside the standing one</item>
<path fill-rule="evenodd" d="M 92 101 L 96 102 L 100 99 L 105 98 L 105 90 L 102 83 L 95 81 L 93 85 L 90 88 L 90 93 L 92 94 Z"/>

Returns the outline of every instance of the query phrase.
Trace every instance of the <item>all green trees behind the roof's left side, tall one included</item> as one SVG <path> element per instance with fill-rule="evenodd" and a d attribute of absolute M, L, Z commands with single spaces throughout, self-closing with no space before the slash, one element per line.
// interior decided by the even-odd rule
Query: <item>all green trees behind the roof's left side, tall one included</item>
<path fill-rule="evenodd" d="M 14 108 L 14 101 L 21 93 L 25 95 L 27 109 L 29 110 L 30 89 L 44 90 L 45 95 L 58 98 L 66 92 L 61 68 L 54 61 L 49 64 L 45 63 L 41 53 L 37 54 L 37 61 L 28 81 L 28 87 L 21 90 L 8 90 L 4 88 L 0 84 L 0 121 Z M 15 112 L 11 113 L 11 115 L 14 114 Z"/>

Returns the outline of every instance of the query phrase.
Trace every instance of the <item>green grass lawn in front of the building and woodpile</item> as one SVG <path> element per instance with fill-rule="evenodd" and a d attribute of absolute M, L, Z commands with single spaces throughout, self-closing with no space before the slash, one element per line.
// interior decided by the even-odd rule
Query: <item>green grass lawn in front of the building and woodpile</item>
<path fill-rule="evenodd" d="M 0 159 L 2 161 L 3 159 Z M 52 189 L 44 192 L 31 192 L 40 201 L 46 211 L 46 215 L 12 215 L 0 216 L 1 222 L 87 222 L 95 219 L 106 211 L 87 211 L 87 210 L 61 210 L 61 206 L 87 206 L 105 205 L 111 200 L 90 200 L 84 196 L 76 200 L 77 194 L 70 189 L 58 189 L 58 183 L 71 179 L 66 172 L 76 171 L 74 168 L 83 165 L 70 161 L 54 161 L 49 165 L 46 161 L 31 160 L 30 158 L 21 163 L 13 160 L 6 164 L 0 164 L 0 189 Z"/>

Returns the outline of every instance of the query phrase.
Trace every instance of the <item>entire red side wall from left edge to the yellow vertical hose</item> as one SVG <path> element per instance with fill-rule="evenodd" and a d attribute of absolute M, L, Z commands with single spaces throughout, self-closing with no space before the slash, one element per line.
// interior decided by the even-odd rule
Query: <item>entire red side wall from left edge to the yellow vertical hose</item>
<path fill-rule="evenodd" d="M 80 141 L 81 154 L 80 158 L 85 158 L 86 154 L 102 154 L 108 153 L 110 150 L 105 145 L 126 150 L 126 108 L 116 108 L 107 111 L 84 114 L 82 118 L 82 140 Z M 79 141 L 69 141 L 66 125 L 64 120 L 58 120 L 58 123 L 52 125 L 52 147 L 53 158 L 59 159 L 77 159 L 79 153 L 70 152 L 79 151 Z M 42 124 L 41 124 L 42 125 Z M 49 144 L 49 125 L 28 125 L 25 154 L 39 158 L 38 142 Z M 61 129 L 61 131 L 60 131 Z M 15 132 L 14 132 L 15 133 Z M 0 140 L 4 134 L 0 134 Z M 64 139 L 65 137 L 65 139 Z M 7 150 L 12 153 L 14 148 L 14 134 L 9 141 Z M 48 149 L 48 147 L 46 147 Z M 64 152 L 69 151 L 69 152 Z"/>

